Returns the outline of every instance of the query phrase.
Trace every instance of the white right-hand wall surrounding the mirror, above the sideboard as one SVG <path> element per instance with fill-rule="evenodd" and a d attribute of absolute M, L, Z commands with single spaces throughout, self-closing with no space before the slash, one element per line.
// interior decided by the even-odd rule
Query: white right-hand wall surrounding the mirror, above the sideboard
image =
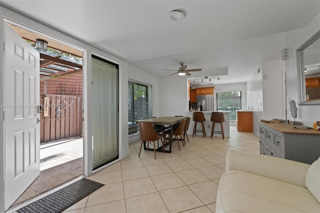
<path fill-rule="evenodd" d="M 297 118 L 304 125 L 312 126 L 312 123 L 320 120 L 320 105 L 298 105 L 298 86 L 295 50 L 309 37 L 320 29 L 320 14 L 318 14 L 305 28 L 284 32 L 285 46 L 289 47 L 289 58 L 285 60 L 286 70 L 286 98 L 296 102 Z M 286 105 L 289 112 L 289 106 Z M 288 119 L 292 120 L 288 113 Z"/>

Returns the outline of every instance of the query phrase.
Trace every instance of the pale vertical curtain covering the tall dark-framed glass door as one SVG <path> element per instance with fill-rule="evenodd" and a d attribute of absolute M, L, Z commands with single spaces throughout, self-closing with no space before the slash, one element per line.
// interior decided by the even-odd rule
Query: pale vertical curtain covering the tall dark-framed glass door
<path fill-rule="evenodd" d="M 92 167 L 118 156 L 118 70 L 92 57 Z"/>

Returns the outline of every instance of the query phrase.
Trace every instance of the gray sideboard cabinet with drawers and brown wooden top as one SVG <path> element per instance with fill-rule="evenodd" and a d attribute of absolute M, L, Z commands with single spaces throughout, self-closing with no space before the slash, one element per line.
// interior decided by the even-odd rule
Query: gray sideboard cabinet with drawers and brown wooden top
<path fill-rule="evenodd" d="M 260 154 L 311 164 L 320 156 L 320 131 L 259 122 Z"/>

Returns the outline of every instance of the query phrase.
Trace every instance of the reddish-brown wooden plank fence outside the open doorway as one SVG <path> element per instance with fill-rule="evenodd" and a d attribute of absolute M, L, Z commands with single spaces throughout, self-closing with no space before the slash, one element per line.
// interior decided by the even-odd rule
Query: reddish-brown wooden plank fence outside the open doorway
<path fill-rule="evenodd" d="M 40 142 L 82 135 L 82 97 L 70 95 L 47 94 L 49 97 L 48 116 L 40 114 Z M 61 107 L 60 118 L 56 115 L 56 107 Z M 40 104 L 44 104 L 44 95 L 40 96 Z M 43 111 L 43 109 L 42 109 Z"/>

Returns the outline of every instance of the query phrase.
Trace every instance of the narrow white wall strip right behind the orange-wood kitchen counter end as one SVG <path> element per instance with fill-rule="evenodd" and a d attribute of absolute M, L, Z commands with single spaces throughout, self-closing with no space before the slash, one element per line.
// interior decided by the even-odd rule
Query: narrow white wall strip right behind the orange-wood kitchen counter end
<path fill-rule="evenodd" d="M 262 119 L 262 71 L 253 70 L 246 82 L 246 100 L 248 106 L 253 106 L 253 132 L 258 135 L 258 120 Z"/>

